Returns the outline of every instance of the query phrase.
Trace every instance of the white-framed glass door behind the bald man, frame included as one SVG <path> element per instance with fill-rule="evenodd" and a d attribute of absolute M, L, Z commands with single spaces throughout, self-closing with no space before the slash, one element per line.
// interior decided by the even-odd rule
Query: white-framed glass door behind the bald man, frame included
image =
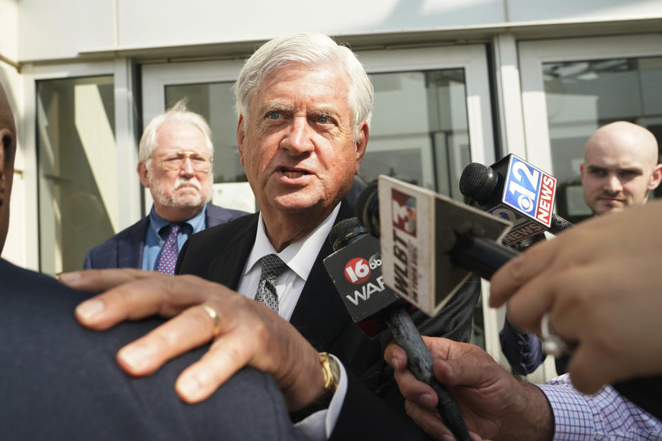
<path fill-rule="evenodd" d="M 588 137 L 630 121 L 662 141 L 662 36 L 530 41 L 519 54 L 528 157 L 559 180 L 556 212 L 583 220 L 591 215 L 579 179 Z"/>

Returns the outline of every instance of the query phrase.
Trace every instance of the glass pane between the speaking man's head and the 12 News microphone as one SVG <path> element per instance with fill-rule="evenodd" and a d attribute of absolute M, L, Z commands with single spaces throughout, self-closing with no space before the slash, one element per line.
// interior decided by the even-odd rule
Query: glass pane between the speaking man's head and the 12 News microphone
<path fill-rule="evenodd" d="M 379 174 L 463 199 L 459 179 L 470 163 L 462 69 L 372 74 L 374 114 L 361 177 Z"/>

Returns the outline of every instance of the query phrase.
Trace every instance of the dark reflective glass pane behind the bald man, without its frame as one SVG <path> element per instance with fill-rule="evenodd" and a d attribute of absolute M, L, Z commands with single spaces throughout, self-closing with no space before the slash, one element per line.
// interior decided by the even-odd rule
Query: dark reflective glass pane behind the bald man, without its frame
<path fill-rule="evenodd" d="M 630 121 L 662 141 L 662 57 L 543 64 L 556 211 L 572 222 L 590 216 L 579 164 L 584 144 L 602 125 Z M 662 196 L 656 189 L 654 196 Z"/>

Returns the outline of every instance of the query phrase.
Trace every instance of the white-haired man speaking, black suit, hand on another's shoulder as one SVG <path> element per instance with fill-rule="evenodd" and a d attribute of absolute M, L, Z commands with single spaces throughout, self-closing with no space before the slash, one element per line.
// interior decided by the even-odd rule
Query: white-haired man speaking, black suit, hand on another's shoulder
<path fill-rule="evenodd" d="M 237 299 L 233 304 L 256 310 L 252 312 L 261 317 L 261 325 L 245 329 L 248 324 L 234 312 L 232 317 L 236 318 L 230 322 L 219 320 L 229 311 L 219 310 L 227 305 L 215 303 L 212 297 L 203 302 L 203 307 L 194 307 L 200 302 L 197 293 L 192 293 L 198 282 L 188 278 L 183 280 L 192 280 L 195 286 L 183 293 L 168 289 L 165 296 L 150 296 L 132 288 L 132 293 L 123 298 L 103 296 L 106 309 L 86 314 L 86 307 L 100 305 L 88 303 L 81 306 L 79 312 L 83 314 L 79 318 L 98 328 L 101 323 L 108 326 L 121 318 L 156 312 L 172 315 L 188 308 L 179 320 L 170 322 L 163 334 L 147 336 L 119 355 L 128 371 L 146 374 L 157 369 L 161 360 L 213 336 L 216 342 L 205 358 L 178 382 L 179 393 L 187 400 L 200 400 L 215 389 L 223 381 L 219 367 L 233 362 L 257 365 L 272 373 L 289 396 L 292 387 L 283 378 L 297 372 L 294 381 L 299 382 L 311 378 L 310 373 L 319 376 L 319 371 L 328 372 L 335 362 L 325 357 L 328 351 L 337 356 L 352 374 L 350 377 L 358 376 L 370 391 L 402 414 L 403 398 L 383 362 L 390 333 L 383 331 L 374 340 L 363 335 L 322 262 L 333 251 L 327 240 L 332 225 L 354 216 L 353 207 L 343 198 L 359 172 L 368 143 L 373 101 L 368 75 L 351 50 L 329 37 L 294 34 L 268 41 L 246 61 L 235 95 L 237 145 L 260 212 L 191 236 L 179 254 L 177 273 L 194 274 L 237 290 L 250 299 L 250 306 Z M 80 276 L 77 286 L 108 287 L 91 281 L 97 276 L 103 279 L 103 275 Z M 68 282 L 72 283 L 70 278 Z M 472 278 L 439 316 L 423 322 L 419 313 L 421 316 L 414 317 L 414 321 L 425 326 L 425 334 L 468 340 L 479 287 L 479 280 Z M 192 327 L 189 319 L 205 319 L 205 326 Z M 282 329 L 288 329 L 282 319 L 322 352 L 317 366 L 305 364 L 303 358 L 283 360 L 279 353 L 268 357 L 268 362 L 259 357 L 265 355 L 261 349 L 265 340 L 281 340 Z M 220 329 L 226 327 L 228 335 L 220 335 Z M 212 329 L 219 332 L 212 333 Z M 241 336 L 232 329 L 243 329 Z M 278 352 L 276 349 L 272 342 L 265 350 Z M 305 360 L 309 362 L 310 358 Z M 320 389 L 308 387 L 309 391 Z M 355 390 L 349 387 L 345 400 L 357 411 L 348 426 L 352 430 L 359 424 L 355 419 L 363 420 L 365 412 L 372 409 L 363 398 L 354 396 Z M 327 399 L 314 400 L 315 405 L 306 406 L 295 419 L 325 408 Z"/>

